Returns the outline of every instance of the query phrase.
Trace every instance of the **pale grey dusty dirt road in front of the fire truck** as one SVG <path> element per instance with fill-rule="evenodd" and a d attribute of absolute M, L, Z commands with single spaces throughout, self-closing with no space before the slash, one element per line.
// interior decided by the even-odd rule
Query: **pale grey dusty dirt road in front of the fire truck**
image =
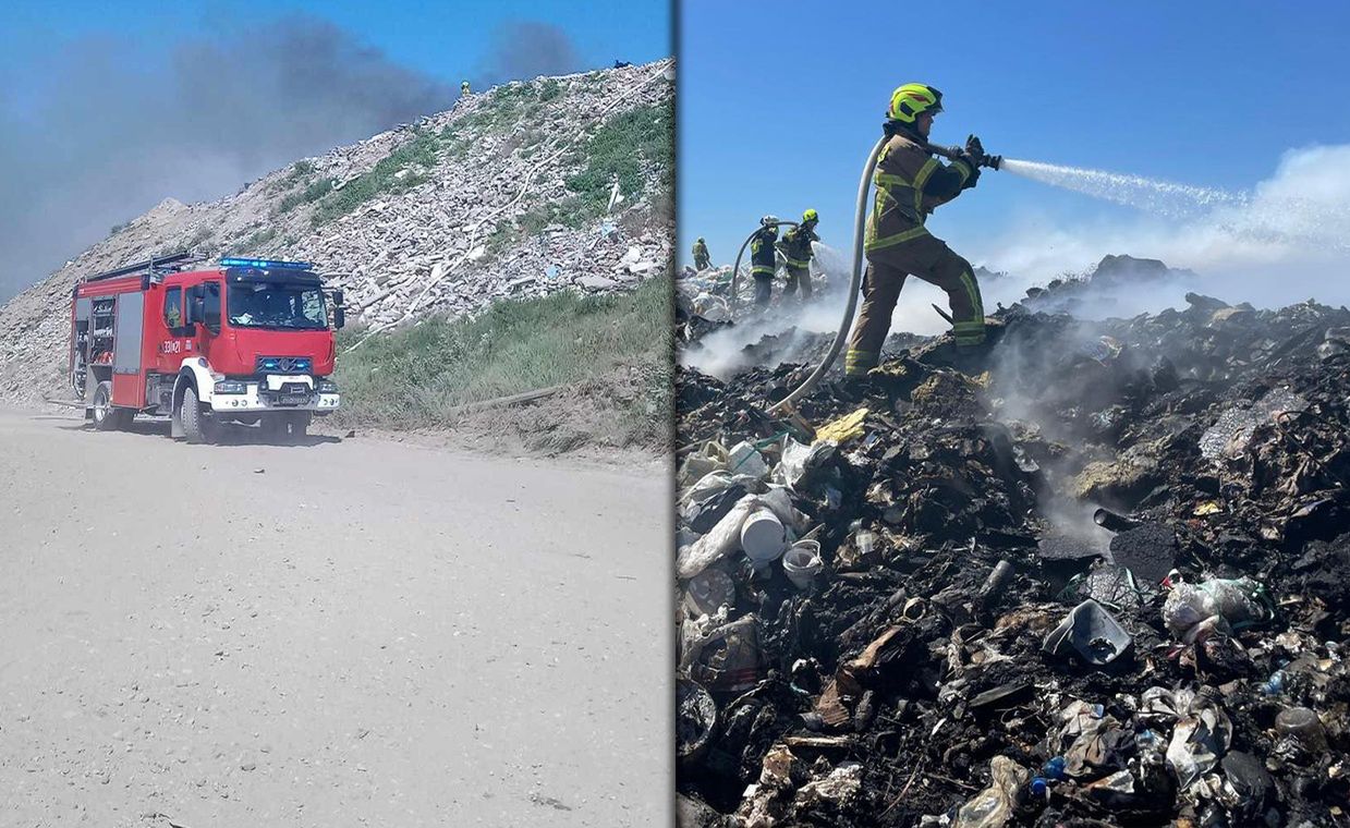
<path fill-rule="evenodd" d="M 0 825 L 660 825 L 668 477 L 0 413 Z"/>

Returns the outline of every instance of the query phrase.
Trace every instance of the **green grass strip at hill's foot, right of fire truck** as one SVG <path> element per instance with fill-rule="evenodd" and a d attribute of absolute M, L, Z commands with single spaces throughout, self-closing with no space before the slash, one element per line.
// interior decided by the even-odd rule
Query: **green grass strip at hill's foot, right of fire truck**
<path fill-rule="evenodd" d="M 359 334 L 343 331 L 336 378 L 344 411 L 336 421 L 450 428 L 460 416 L 455 407 L 603 382 L 628 366 L 643 378 L 640 390 L 597 394 L 614 409 L 609 436 L 613 444 L 657 444 L 667 439 L 671 404 L 670 290 L 670 280 L 657 278 L 625 294 L 498 301 L 473 319 L 433 317 L 377 335 L 350 354 L 342 351 Z"/>

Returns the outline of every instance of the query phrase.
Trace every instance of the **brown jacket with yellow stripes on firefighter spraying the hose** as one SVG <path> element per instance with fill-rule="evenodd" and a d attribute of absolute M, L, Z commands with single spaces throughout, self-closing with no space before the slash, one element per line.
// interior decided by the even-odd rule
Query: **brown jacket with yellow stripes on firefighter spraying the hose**
<path fill-rule="evenodd" d="M 899 131 L 886 142 L 872 181 L 876 199 L 867 216 L 864 246 L 880 250 L 926 235 L 923 222 L 938 205 L 975 186 L 979 170 L 965 159 L 942 165 L 918 135 Z"/>

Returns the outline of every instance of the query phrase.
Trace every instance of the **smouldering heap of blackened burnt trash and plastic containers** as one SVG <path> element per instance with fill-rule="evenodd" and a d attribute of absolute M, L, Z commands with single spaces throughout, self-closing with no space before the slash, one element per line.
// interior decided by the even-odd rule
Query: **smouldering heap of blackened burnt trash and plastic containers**
<path fill-rule="evenodd" d="M 684 824 L 1343 824 L 1350 312 L 990 339 L 680 369 Z"/>

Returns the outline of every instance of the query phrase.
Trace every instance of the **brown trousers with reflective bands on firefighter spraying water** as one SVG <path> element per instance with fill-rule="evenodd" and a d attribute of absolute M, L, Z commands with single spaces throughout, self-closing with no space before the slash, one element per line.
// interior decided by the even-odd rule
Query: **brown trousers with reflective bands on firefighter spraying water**
<path fill-rule="evenodd" d="M 984 343 L 984 303 L 971 263 L 956 255 L 946 242 L 925 232 L 915 239 L 868 251 L 863 308 L 849 336 L 845 374 L 865 374 L 880 362 L 882 344 L 891 330 L 891 315 L 909 276 L 946 292 L 957 347 Z"/>

